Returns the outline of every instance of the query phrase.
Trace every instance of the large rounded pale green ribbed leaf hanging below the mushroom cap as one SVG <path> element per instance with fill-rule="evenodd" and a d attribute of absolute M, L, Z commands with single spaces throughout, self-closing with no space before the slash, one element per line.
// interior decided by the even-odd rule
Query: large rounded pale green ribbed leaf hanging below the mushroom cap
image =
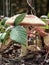
<path fill-rule="evenodd" d="M 10 33 L 10 38 L 20 44 L 25 45 L 27 41 L 27 33 L 24 27 L 16 26 Z"/>

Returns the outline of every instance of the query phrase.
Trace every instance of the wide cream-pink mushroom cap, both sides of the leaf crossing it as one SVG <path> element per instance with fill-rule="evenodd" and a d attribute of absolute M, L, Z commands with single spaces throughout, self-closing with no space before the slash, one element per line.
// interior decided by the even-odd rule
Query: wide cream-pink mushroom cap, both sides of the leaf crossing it
<path fill-rule="evenodd" d="M 5 24 L 14 24 L 14 20 L 16 19 L 18 15 L 12 16 L 10 19 L 6 21 Z M 23 21 L 20 23 L 20 25 L 32 25 L 32 26 L 44 26 L 46 25 L 41 19 L 39 19 L 37 16 L 34 15 L 26 15 Z"/>

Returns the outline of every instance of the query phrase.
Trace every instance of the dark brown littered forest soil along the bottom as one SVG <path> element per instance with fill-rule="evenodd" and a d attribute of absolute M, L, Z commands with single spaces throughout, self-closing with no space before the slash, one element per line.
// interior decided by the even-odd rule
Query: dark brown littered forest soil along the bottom
<path fill-rule="evenodd" d="M 47 56 L 46 50 L 28 52 L 24 57 L 19 57 L 19 54 L 20 47 L 10 46 L 0 53 L 0 65 L 49 65 L 49 55 Z"/>

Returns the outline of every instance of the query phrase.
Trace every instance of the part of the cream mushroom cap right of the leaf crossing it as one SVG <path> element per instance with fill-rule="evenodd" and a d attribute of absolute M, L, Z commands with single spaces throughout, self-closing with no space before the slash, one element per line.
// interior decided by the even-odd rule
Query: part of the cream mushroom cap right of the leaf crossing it
<path fill-rule="evenodd" d="M 20 25 L 44 26 L 45 23 L 34 15 L 26 15 Z"/>

